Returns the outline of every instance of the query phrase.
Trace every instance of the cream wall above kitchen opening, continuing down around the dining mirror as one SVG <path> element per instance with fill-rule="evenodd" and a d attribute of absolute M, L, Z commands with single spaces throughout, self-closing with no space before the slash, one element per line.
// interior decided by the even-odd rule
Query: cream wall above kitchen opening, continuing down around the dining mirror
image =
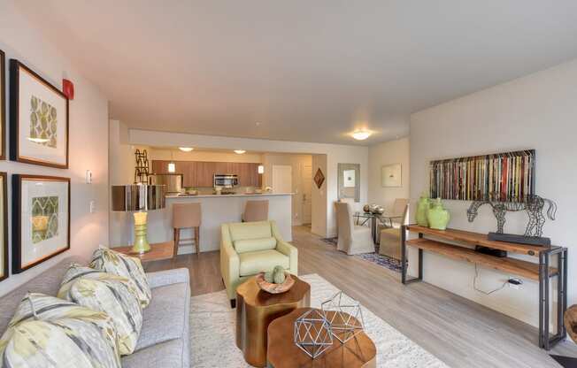
<path fill-rule="evenodd" d="M 156 132 L 150 130 L 130 130 L 130 142 L 132 144 L 181 147 L 192 146 L 199 149 L 223 149 L 242 147 L 257 152 L 284 152 L 284 153 L 304 153 L 327 155 L 327 167 L 325 184 L 327 190 L 327 201 L 325 207 L 327 215 L 325 216 L 327 230 L 322 236 L 335 236 L 336 218 L 333 203 L 337 199 L 336 184 L 336 165 L 343 164 L 360 164 L 361 165 L 361 203 L 366 203 L 366 193 L 368 189 L 368 148 L 361 146 L 347 146 L 339 144 L 324 144 L 311 142 L 284 142 L 271 141 L 249 138 L 231 138 L 215 135 L 198 135 L 198 134 L 181 134 Z M 313 176 L 316 168 L 313 167 Z M 324 190 L 324 189 L 323 189 Z M 313 205 L 312 211 L 317 211 Z M 315 216 L 313 215 L 313 219 Z M 315 227 L 313 225 L 313 227 Z"/>

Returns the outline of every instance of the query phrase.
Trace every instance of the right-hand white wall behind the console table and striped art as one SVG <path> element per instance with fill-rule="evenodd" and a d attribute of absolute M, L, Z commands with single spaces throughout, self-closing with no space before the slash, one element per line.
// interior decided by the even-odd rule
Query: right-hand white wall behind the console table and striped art
<path fill-rule="evenodd" d="M 577 61 L 419 111 L 411 117 L 413 203 L 428 187 L 430 160 L 536 149 L 536 193 L 558 203 L 557 220 L 548 221 L 543 233 L 554 244 L 569 248 L 569 305 L 577 303 L 577 288 L 572 282 L 577 271 L 577 257 L 573 254 L 577 251 L 573 231 L 577 208 L 575 96 Z M 444 203 L 451 213 L 451 227 L 481 233 L 496 230 L 489 207 L 481 207 L 480 215 L 471 224 L 465 216 L 470 202 Z M 507 233 L 523 234 L 526 225 L 525 213 L 507 214 Z M 473 290 L 473 272 L 471 264 L 425 256 L 427 282 L 537 325 L 537 282 L 525 280 L 520 290 L 504 288 L 486 296 Z M 508 276 L 481 269 L 481 288 L 497 288 Z"/>

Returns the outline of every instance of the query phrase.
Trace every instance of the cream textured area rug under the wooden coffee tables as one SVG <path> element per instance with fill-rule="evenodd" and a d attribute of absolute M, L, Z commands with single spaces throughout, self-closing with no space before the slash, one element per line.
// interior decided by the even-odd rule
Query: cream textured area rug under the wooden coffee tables
<path fill-rule="evenodd" d="M 304 275 L 311 284 L 311 306 L 338 291 L 317 274 Z M 387 368 L 445 368 L 439 359 L 363 307 L 365 333 L 377 347 L 377 366 Z M 194 296 L 190 303 L 191 366 L 195 368 L 249 368 L 235 344 L 235 310 L 224 290 Z M 291 342 L 288 342 L 291 343 Z"/>

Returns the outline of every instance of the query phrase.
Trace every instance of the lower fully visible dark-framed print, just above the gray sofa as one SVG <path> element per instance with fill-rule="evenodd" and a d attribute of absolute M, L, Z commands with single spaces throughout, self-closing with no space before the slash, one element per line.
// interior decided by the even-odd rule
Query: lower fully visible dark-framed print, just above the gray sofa
<path fill-rule="evenodd" d="M 70 179 L 12 176 L 12 273 L 70 249 Z"/>

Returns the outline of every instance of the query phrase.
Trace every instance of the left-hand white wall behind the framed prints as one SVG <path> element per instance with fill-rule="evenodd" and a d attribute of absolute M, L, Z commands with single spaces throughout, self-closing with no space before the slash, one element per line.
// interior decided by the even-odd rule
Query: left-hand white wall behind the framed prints
<path fill-rule="evenodd" d="M 73 70 L 73 66 L 58 50 L 50 47 L 34 25 L 15 9 L 12 1 L 0 2 L 0 49 L 6 54 L 6 68 L 10 58 L 18 58 L 57 87 L 61 86 L 63 77 L 73 80 L 75 86 L 75 98 L 70 102 L 70 168 L 62 170 L 11 161 L 0 162 L 0 171 L 8 173 L 9 183 L 12 183 L 11 175 L 14 173 L 71 178 L 71 249 L 0 282 L 0 295 L 4 295 L 64 257 L 89 257 L 98 244 L 108 243 L 108 102 L 93 84 Z M 7 108 L 9 110 L 9 106 Z M 6 123 L 8 134 L 8 121 Z M 8 139 L 5 142 L 7 144 Z M 86 170 L 93 173 L 94 181 L 89 185 L 84 184 Z M 9 227 L 12 225 L 11 189 L 9 186 Z M 88 211 L 91 200 L 96 201 L 95 213 Z M 12 234 L 9 243 L 12 245 Z M 10 253 L 12 260 L 12 249 Z"/>

